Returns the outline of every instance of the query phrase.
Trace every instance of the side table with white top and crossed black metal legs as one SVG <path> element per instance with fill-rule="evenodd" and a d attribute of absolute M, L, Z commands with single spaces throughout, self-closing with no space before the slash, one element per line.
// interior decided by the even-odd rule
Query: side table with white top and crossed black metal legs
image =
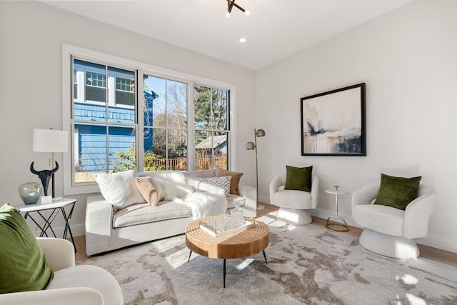
<path fill-rule="evenodd" d="M 71 233 L 71 228 L 70 228 L 70 220 L 71 220 L 71 215 L 73 214 L 74 210 L 74 204 L 76 204 L 76 199 L 71 199 L 71 198 L 64 198 L 59 201 L 53 201 L 51 204 L 28 204 L 28 205 L 22 205 L 19 206 L 19 211 L 25 213 L 24 218 L 27 219 L 27 217 L 30 217 L 32 221 L 36 224 L 36 226 L 39 227 L 41 230 L 40 232 L 40 237 L 48 236 L 48 229 L 51 230 L 52 234 L 54 237 L 56 236 L 56 232 L 54 232 L 54 229 L 52 229 L 52 221 L 56 219 L 56 216 L 59 214 L 59 211 L 61 211 L 62 216 L 64 216 L 64 221 L 65 221 L 65 229 L 64 229 L 64 236 L 63 238 L 66 239 L 67 234 L 70 234 L 71 238 L 71 243 L 74 246 L 74 251 L 76 252 L 76 245 L 74 244 L 74 239 L 73 239 L 73 234 Z M 69 212 L 65 211 L 65 209 L 68 209 Z M 44 215 L 42 212 L 43 211 L 51 211 L 51 214 L 49 216 Z M 36 213 L 35 217 L 40 216 L 41 219 L 44 220 L 44 224 L 39 224 L 39 220 L 34 219 L 33 213 Z"/>

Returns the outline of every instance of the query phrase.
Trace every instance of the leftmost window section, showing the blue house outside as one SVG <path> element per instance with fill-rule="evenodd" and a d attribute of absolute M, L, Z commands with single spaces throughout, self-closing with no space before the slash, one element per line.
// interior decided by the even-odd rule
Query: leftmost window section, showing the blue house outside
<path fill-rule="evenodd" d="M 94 181 L 94 173 L 134 167 L 137 129 L 134 97 L 126 103 L 125 96 L 119 98 L 117 92 L 121 79 L 122 92 L 134 95 L 136 71 L 80 59 L 73 59 L 72 65 L 74 183 Z M 79 86 L 81 80 L 84 86 Z M 111 91 L 116 94 L 110 94 Z"/>

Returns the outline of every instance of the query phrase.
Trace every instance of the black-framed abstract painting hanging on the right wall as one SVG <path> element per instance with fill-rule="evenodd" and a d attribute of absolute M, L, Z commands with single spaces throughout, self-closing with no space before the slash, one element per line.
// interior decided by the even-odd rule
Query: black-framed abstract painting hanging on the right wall
<path fill-rule="evenodd" d="M 366 156 L 366 84 L 300 99 L 302 156 Z"/>

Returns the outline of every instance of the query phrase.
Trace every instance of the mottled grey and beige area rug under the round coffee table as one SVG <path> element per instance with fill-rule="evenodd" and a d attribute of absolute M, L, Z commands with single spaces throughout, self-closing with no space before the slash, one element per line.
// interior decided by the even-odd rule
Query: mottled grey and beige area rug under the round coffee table
<path fill-rule="evenodd" d="M 262 253 L 226 261 L 192 254 L 184 235 L 94 256 L 121 284 L 125 304 L 457 304 L 457 268 L 430 259 L 397 260 L 320 226 L 272 216 L 268 264 Z"/>

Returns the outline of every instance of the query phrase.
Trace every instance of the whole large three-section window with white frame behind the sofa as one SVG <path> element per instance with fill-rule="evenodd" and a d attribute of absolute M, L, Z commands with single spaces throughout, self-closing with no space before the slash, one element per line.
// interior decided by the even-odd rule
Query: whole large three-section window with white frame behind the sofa
<path fill-rule="evenodd" d="M 229 169 L 233 85 L 75 46 L 62 50 L 64 129 L 72 135 L 65 194 L 98 191 L 94 173 Z"/>

